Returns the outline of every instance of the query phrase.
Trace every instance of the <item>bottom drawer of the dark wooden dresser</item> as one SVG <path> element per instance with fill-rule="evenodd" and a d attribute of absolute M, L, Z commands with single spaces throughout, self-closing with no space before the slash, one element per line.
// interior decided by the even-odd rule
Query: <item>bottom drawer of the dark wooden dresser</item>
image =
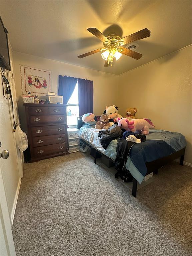
<path fill-rule="evenodd" d="M 33 152 L 35 157 L 41 157 L 41 156 L 51 155 L 59 152 L 65 152 L 66 149 L 67 149 L 66 143 L 59 143 L 59 144 L 33 148 Z"/>

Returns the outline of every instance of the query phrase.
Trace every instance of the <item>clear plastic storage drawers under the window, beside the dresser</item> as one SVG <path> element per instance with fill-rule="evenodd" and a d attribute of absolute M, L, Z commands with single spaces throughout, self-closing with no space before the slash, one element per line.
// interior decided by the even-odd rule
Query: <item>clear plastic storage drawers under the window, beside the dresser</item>
<path fill-rule="evenodd" d="M 69 153 L 79 151 L 79 130 L 77 128 L 68 128 Z"/>

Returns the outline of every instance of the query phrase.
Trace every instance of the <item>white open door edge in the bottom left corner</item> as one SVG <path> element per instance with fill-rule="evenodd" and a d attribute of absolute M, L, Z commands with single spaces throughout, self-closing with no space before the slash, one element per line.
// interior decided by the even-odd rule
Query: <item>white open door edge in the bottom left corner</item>
<path fill-rule="evenodd" d="M 1 153 L 1 150 L 0 150 Z M 0 158 L 0 255 L 15 256 L 15 247 L 11 231 L 11 219 L 7 206 L 5 195 L 4 182 L 1 170 L 1 161 L 6 161 Z"/>

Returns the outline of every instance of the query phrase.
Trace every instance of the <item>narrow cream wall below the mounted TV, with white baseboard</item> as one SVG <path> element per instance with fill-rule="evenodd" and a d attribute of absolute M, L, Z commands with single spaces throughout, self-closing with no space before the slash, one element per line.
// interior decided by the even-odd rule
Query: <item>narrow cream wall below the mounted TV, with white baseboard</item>
<path fill-rule="evenodd" d="M 4 73 L 7 75 L 6 71 Z M 9 112 L 10 100 L 5 99 L 3 90 L 4 95 L 9 98 L 9 95 L 6 94 L 5 86 L 2 85 L 0 79 L 0 141 L 2 143 L 0 150 L 7 149 L 9 151 L 9 158 L 6 160 L 0 158 L 0 162 L 9 216 L 11 221 L 13 221 L 21 178 L 18 169 L 17 151 L 15 149 L 13 123 Z"/>

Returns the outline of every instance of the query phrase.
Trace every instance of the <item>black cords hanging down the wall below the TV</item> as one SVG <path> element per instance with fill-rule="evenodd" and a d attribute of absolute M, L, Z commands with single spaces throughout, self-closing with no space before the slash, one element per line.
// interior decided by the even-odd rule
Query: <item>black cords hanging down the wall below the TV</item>
<path fill-rule="evenodd" d="M 7 70 L 6 70 L 7 71 Z M 14 117 L 14 112 L 13 112 L 13 98 L 12 98 L 12 94 L 11 94 L 11 87 L 9 85 L 9 81 L 5 76 L 5 73 L 1 67 L 1 81 L 2 81 L 2 86 L 3 86 L 3 97 L 6 100 L 10 100 L 11 99 L 11 106 L 12 106 L 12 113 L 13 113 L 13 121 L 14 121 L 14 127 L 13 130 L 16 130 L 16 123 L 15 123 L 15 117 Z M 8 77 L 8 73 L 7 73 L 7 77 Z M 4 88 L 5 87 L 5 88 Z M 7 94 L 7 96 L 5 95 L 5 92 Z"/>

